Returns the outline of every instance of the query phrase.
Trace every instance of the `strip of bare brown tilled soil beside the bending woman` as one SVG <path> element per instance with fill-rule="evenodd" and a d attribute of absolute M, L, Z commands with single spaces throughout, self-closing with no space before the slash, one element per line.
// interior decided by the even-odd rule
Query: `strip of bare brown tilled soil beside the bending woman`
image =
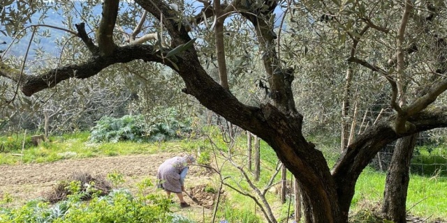
<path fill-rule="evenodd" d="M 173 153 L 154 155 L 126 155 L 115 157 L 95 157 L 80 160 L 61 160 L 45 164 L 21 164 L 0 166 L 0 199 L 4 194 L 13 197 L 13 205 L 42 197 L 52 190 L 60 180 L 68 179 L 72 174 L 87 173 L 91 176 L 106 176 L 118 171 L 126 183 L 121 185 L 135 189 L 135 183 L 143 178 L 155 179 L 159 165 Z M 207 184 L 210 176 L 204 176 L 202 167 L 191 167 L 186 177 L 186 187 Z M 193 204 L 189 198 L 186 201 Z M 209 202 L 207 202 L 209 203 Z"/>

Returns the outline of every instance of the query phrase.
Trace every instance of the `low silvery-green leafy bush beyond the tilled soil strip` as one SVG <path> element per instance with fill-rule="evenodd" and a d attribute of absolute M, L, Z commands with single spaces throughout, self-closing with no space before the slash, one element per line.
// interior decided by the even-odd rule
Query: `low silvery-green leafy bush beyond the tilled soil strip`
<path fill-rule="evenodd" d="M 122 118 L 103 116 L 91 130 L 90 141 L 118 142 L 118 141 L 166 141 L 178 139 L 184 132 L 190 132 L 189 121 L 182 122 L 177 118 L 176 109 L 145 120 L 142 115 L 126 115 Z"/>

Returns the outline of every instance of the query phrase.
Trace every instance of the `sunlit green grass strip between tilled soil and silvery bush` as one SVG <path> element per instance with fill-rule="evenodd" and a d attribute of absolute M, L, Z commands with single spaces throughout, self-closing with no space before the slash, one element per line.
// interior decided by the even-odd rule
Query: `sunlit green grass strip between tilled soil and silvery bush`
<path fill-rule="evenodd" d="M 1 164 L 44 163 L 65 159 L 79 159 L 100 156 L 154 154 L 160 152 L 188 152 L 203 144 L 203 139 L 176 140 L 156 143 L 136 143 L 119 141 L 117 143 L 94 144 L 88 140 L 89 132 L 75 132 L 50 137 L 39 146 L 8 149 L 0 153 Z M 12 141 L 13 139 L 9 139 Z M 22 154 L 22 156 L 20 156 Z"/>

